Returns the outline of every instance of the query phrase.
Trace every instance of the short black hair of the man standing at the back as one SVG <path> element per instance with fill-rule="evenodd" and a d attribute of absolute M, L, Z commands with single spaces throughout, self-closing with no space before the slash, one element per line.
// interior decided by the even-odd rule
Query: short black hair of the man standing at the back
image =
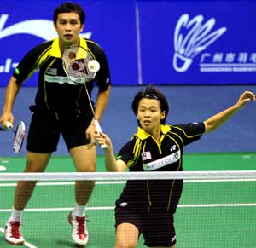
<path fill-rule="evenodd" d="M 54 24 L 56 24 L 56 22 L 57 22 L 58 14 L 71 13 L 71 12 L 75 12 L 75 13 L 79 14 L 80 22 L 83 25 L 84 21 L 85 21 L 84 9 L 79 4 L 71 3 L 71 2 L 61 3 L 61 5 L 55 9 L 55 12 L 53 15 Z"/>

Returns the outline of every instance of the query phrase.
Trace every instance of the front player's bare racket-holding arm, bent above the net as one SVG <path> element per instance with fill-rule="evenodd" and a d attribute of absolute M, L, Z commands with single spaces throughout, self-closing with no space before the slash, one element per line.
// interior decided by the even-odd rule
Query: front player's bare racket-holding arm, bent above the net
<path fill-rule="evenodd" d="M 104 149 L 105 153 L 105 165 L 107 171 L 112 172 L 122 172 L 126 170 L 126 164 L 121 159 L 115 159 L 114 153 L 113 153 L 113 145 L 110 138 L 103 133 L 95 133 L 96 142 L 101 146 L 102 144 L 106 143 L 108 146 L 106 149 Z"/>

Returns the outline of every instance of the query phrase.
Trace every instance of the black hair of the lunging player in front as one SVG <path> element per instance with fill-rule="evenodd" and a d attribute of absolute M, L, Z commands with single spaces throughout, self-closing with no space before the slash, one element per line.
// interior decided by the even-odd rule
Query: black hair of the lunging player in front
<path fill-rule="evenodd" d="M 137 115 L 139 102 L 143 98 L 155 99 L 160 101 L 161 112 L 166 112 L 165 118 L 161 119 L 161 124 L 166 124 L 166 117 L 169 112 L 169 104 L 168 104 L 168 101 L 166 100 L 166 96 L 162 94 L 159 89 L 155 89 L 153 84 L 148 84 L 145 91 L 143 90 L 139 91 L 137 95 L 135 95 L 135 97 L 133 98 L 133 101 L 131 103 L 131 108 L 135 113 L 135 115 Z"/>

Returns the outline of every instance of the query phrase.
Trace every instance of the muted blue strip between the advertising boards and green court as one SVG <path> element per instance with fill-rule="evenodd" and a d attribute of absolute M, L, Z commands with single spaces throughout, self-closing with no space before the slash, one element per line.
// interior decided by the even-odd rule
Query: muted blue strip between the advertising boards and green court
<path fill-rule="evenodd" d="M 203 121 L 234 104 L 244 90 L 256 92 L 256 86 L 172 86 L 158 87 L 169 101 L 170 112 L 167 124 L 182 124 Z M 102 118 L 102 130 L 113 140 L 117 153 L 125 142 L 137 131 L 137 118 L 131 111 L 131 101 L 141 86 L 115 86 L 112 89 L 109 104 Z M 3 106 L 5 88 L 0 88 L 0 107 Z M 96 92 L 94 92 L 96 95 Z M 15 124 L 24 120 L 26 127 L 30 124 L 31 113 L 28 107 L 36 94 L 35 87 L 20 89 L 15 101 Z M 95 96 L 94 96 L 95 97 Z M 185 153 L 232 153 L 256 151 L 256 102 L 249 102 L 226 124 L 218 130 L 201 137 L 185 147 Z M 0 157 L 14 156 L 12 150 L 13 133 L 9 130 L 0 132 Z M 102 154 L 102 150 L 98 150 Z M 67 155 L 64 141 L 58 145 L 56 155 Z M 26 141 L 19 156 L 26 155 Z"/>

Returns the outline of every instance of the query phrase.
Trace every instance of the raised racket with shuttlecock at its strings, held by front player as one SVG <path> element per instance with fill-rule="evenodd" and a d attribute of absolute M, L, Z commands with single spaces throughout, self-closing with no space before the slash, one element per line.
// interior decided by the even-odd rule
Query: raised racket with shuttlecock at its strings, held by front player
<path fill-rule="evenodd" d="M 91 112 L 94 116 L 94 124 L 97 132 L 102 132 L 99 122 L 96 120 L 94 107 L 90 101 L 86 83 L 91 82 L 96 72 L 100 70 L 100 64 L 90 54 L 89 50 L 79 46 L 70 46 L 65 49 L 62 55 L 62 66 L 67 77 L 70 78 L 75 84 L 84 84 L 85 92 L 90 102 Z M 101 146 L 102 149 L 107 148 L 106 144 Z"/>

